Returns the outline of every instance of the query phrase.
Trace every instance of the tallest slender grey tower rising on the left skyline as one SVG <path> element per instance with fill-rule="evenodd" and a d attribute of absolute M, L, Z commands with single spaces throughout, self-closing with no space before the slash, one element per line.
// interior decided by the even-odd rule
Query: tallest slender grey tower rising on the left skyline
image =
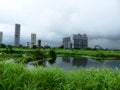
<path fill-rule="evenodd" d="M 15 47 L 20 46 L 20 24 L 15 24 Z"/>

